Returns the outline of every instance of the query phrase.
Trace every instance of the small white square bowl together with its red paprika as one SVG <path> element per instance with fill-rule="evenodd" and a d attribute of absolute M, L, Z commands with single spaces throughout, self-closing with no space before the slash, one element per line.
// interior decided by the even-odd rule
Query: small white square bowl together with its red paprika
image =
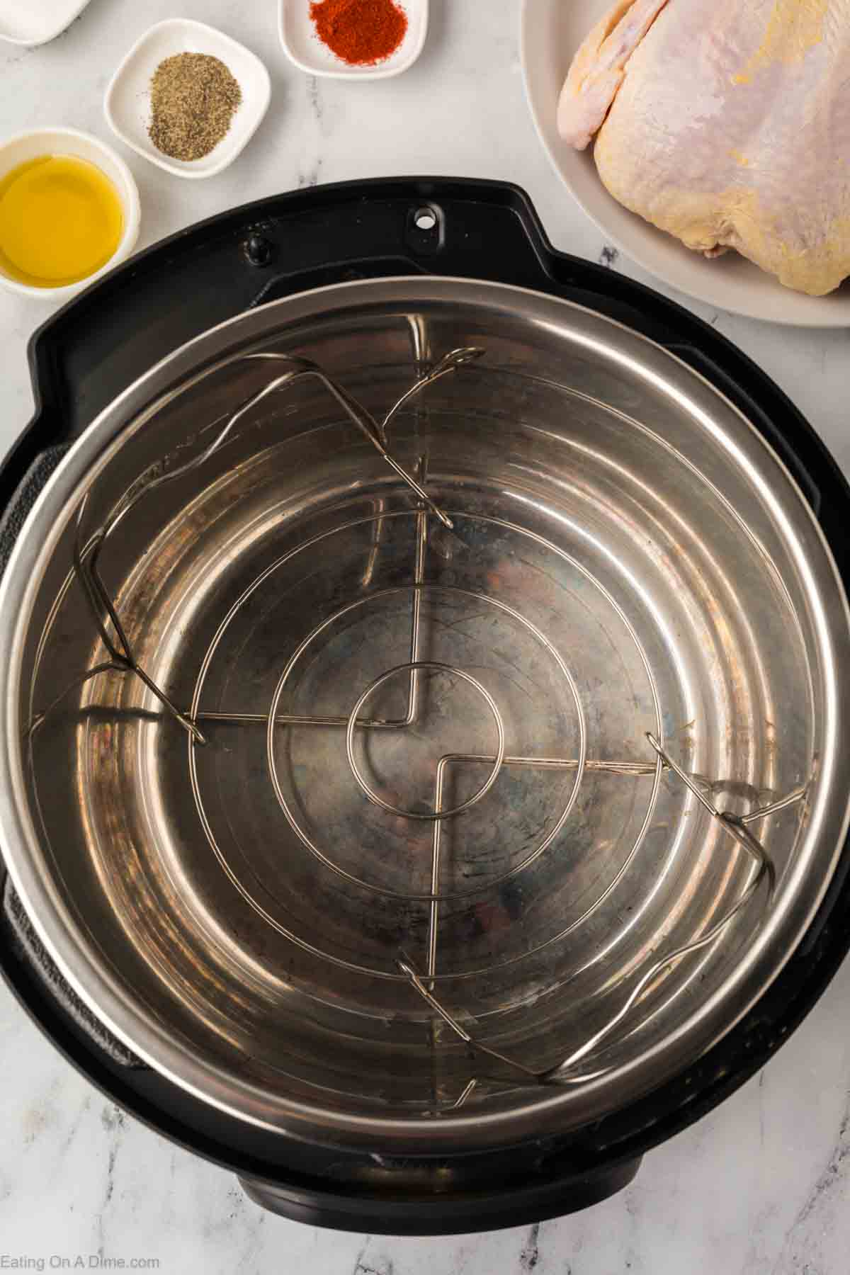
<path fill-rule="evenodd" d="M 308 75 L 384 79 L 413 66 L 428 0 L 280 0 L 280 43 Z"/>

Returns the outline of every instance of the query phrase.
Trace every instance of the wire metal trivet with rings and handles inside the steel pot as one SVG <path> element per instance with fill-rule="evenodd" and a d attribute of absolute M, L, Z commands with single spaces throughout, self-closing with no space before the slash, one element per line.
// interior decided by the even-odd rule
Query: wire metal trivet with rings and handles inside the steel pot
<path fill-rule="evenodd" d="M 302 360 L 293 358 L 284 354 L 249 354 L 245 356 L 250 360 L 268 360 L 275 362 L 284 370 L 280 375 L 275 376 L 268 385 L 265 385 L 259 393 L 251 395 L 236 412 L 233 412 L 224 426 L 220 428 L 215 439 L 209 444 L 209 446 L 196 458 L 189 460 L 187 463 L 178 465 L 176 468 L 166 468 L 166 463 L 161 462 L 147 469 L 130 490 L 117 501 L 117 504 L 111 510 L 110 515 L 104 523 L 92 534 L 85 543 L 82 542 L 82 528 L 84 513 L 88 502 L 88 495 L 83 497 L 78 516 L 76 516 L 76 536 L 74 544 L 74 570 L 75 574 L 85 592 L 88 604 L 97 625 L 98 632 L 107 650 L 108 659 L 93 666 L 87 669 L 83 674 L 76 677 L 73 683 L 65 690 L 65 692 L 59 696 L 54 703 L 40 714 L 36 714 L 32 719 L 29 727 L 29 737 L 36 733 L 36 731 L 42 725 L 45 719 L 54 709 L 75 688 L 79 688 L 83 683 L 99 676 L 104 672 L 120 672 L 130 673 L 138 677 L 152 692 L 152 695 L 162 704 L 167 710 L 167 714 L 178 723 L 184 731 L 187 732 L 191 740 L 191 756 L 194 757 L 194 748 L 204 747 L 206 745 L 206 737 L 203 733 L 203 724 L 209 723 L 232 723 L 236 725 L 257 725 L 263 724 L 268 731 L 268 751 L 270 760 L 270 773 L 271 780 L 275 785 L 278 799 L 280 806 L 293 829 L 298 835 L 305 847 L 329 870 L 343 876 L 348 881 L 362 886 L 368 890 L 373 890 L 378 894 L 385 894 L 391 898 L 398 898 L 403 900 L 418 900 L 427 903 L 429 907 L 429 919 L 428 919 L 428 943 L 427 954 L 423 965 L 419 968 L 410 956 L 400 951 L 398 956 L 398 970 L 399 974 L 405 978 L 412 992 L 414 992 L 424 1003 L 429 1006 L 433 1015 L 442 1020 L 447 1028 L 463 1040 L 470 1049 L 473 1054 L 478 1054 L 482 1058 L 491 1058 L 507 1067 L 521 1084 L 577 1084 L 586 1079 L 586 1074 L 579 1074 L 576 1071 L 577 1065 L 585 1060 L 594 1049 L 596 1049 L 613 1031 L 614 1029 L 627 1017 L 630 1011 L 637 1005 L 642 996 L 651 988 L 655 980 L 672 965 L 682 960 L 691 952 L 696 952 L 717 938 L 726 927 L 730 926 L 733 919 L 747 907 L 751 899 L 754 896 L 762 881 L 767 882 L 765 905 L 762 912 L 762 918 L 770 907 L 772 892 L 775 887 L 775 868 L 768 858 L 761 841 L 751 831 L 751 826 L 760 820 L 768 819 L 771 815 L 779 813 L 786 807 L 800 802 L 805 798 L 808 785 L 795 789 L 788 793 L 788 796 L 772 801 L 768 805 L 758 806 L 757 808 L 749 811 L 747 815 L 735 815 L 730 811 L 723 811 L 711 799 L 711 793 L 714 785 L 710 780 L 700 775 L 687 774 L 666 752 L 660 738 L 655 734 L 646 733 L 646 743 L 649 752 L 652 754 L 652 760 L 647 761 L 598 761 L 586 756 L 586 732 L 584 724 L 584 715 L 581 713 L 581 706 L 577 700 L 577 690 L 572 677 L 554 652 L 556 659 L 558 660 L 563 674 L 571 687 L 573 699 L 579 706 L 579 727 L 580 727 L 580 746 L 579 755 L 576 757 L 549 757 L 549 756 L 512 756 L 506 752 L 506 736 L 505 724 L 500 708 L 496 700 L 491 696 L 486 686 L 473 677 L 466 669 L 452 664 L 443 664 L 432 660 L 424 660 L 421 657 L 422 646 L 422 590 L 424 588 L 424 553 L 426 543 L 428 538 L 429 520 L 436 519 L 442 527 L 452 533 L 454 524 L 449 514 L 440 509 L 438 505 L 429 497 L 426 483 L 427 483 L 427 462 L 422 458 L 417 476 L 414 477 L 409 473 L 399 462 L 393 456 L 389 450 L 387 444 L 387 427 L 393 421 L 394 416 L 405 407 L 415 395 L 421 394 L 428 385 L 455 372 L 457 368 L 477 361 L 484 351 L 468 347 L 455 349 L 446 354 L 440 362 L 437 362 L 429 371 L 422 375 L 414 385 L 394 404 L 394 407 L 387 412 L 382 422 L 375 419 L 375 417 L 352 395 L 339 385 L 333 377 L 321 370 L 317 365 Z M 210 456 L 224 444 L 224 441 L 231 436 L 238 422 L 251 412 L 256 404 L 263 399 L 268 398 L 279 390 L 287 389 L 294 385 L 299 380 L 312 377 L 317 379 L 320 384 L 328 390 L 328 393 L 336 400 L 339 407 L 343 409 L 352 425 L 364 435 L 366 439 L 375 446 L 386 464 L 396 473 L 401 482 L 408 487 L 412 495 L 415 497 L 415 557 L 412 570 L 412 581 L 408 586 L 412 593 L 412 608 L 410 608 L 410 646 L 409 646 L 409 660 L 403 664 L 398 664 L 393 668 L 386 669 L 381 673 L 370 686 L 367 686 L 362 694 L 358 696 L 357 703 L 352 708 L 348 717 L 320 717 L 320 715 L 297 715 L 297 714 L 283 714 L 279 711 L 279 703 L 283 695 L 287 677 L 293 668 L 296 660 L 306 646 L 317 636 L 320 631 L 333 623 L 347 611 L 356 606 L 358 602 L 348 603 L 347 606 L 339 608 L 330 617 L 328 617 L 322 623 L 315 629 L 301 644 L 298 650 L 291 657 L 280 677 L 274 699 L 268 714 L 226 714 L 226 713 L 210 713 L 201 711 L 198 704 L 198 694 L 195 695 L 195 703 L 191 709 L 184 710 L 178 708 L 169 696 L 162 690 L 161 686 L 145 672 L 136 659 L 133 644 L 130 643 L 127 634 L 121 623 L 121 618 L 117 613 L 117 608 L 110 597 L 110 593 L 103 584 L 103 579 L 99 571 L 99 561 L 102 552 L 115 532 L 121 520 L 134 509 L 134 506 L 148 496 L 157 487 L 172 482 L 177 478 L 184 477 L 194 469 L 200 469 Z M 376 534 L 373 548 L 371 552 L 370 561 L 363 575 L 363 586 L 368 585 L 372 571 L 375 569 L 375 555 L 377 552 L 377 546 L 381 539 L 382 520 L 385 515 L 378 515 L 376 520 Z M 386 515 L 390 516 L 390 515 Z M 463 542 L 455 537 L 457 544 Z M 391 593 L 398 590 L 382 590 L 382 593 Z M 456 593 L 465 593 L 466 590 L 454 590 Z M 381 597 L 378 592 L 377 597 Z M 508 612 L 514 618 L 517 618 L 528 629 L 531 629 L 537 636 L 539 636 L 545 645 L 552 652 L 553 648 L 547 643 L 545 638 L 534 630 L 534 626 L 529 621 L 524 620 L 519 612 L 515 612 L 506 603 L 489 598 L 483 593 L 470 594 L 477 599 L 487 601 L 503 611 Z M 417 714 L 419 711 L 419 687 L 421 687 L 421 674 L 426 671 L 447 673 L 455 678 L 459 678 L 469 683 L 475 688 L 486 700 L 487 706 L 492 714 L 493 723 L 497 734 L 497 748 L 494 754 L 446 754 L 443 755 L 436 768 L 435 775 L 435 797 L 433 797 L 433 810 L 431 812 L 413 812 L 404 810 L 401 807 L 394 806 L 385 801 L 366 780 L 361 774 L 354 754 L 354 737 L 357 731 L 370 729 L 370 731 L 394 731 L 404 729 L 413 725 L 417 722 Z M 372 718 L 366 715 L 366 709 L 368 700 L 378 690 L 381 685 L 387 682 L 394 677 L 404 676 L 408 678 L 408 709 L 404 717 L 398 719 L 384 719 Z M 291 811 L 285 801 L 285 794 L 283 793 L 279 780 L 277 778 L 277 771 L 274 766 L 274 750 L 275 750 L 275 736 L 282 727 L 324 727 L 324 728 L 336 728 L 345 732 L 345 750 L 348 756 L 348 764 L 352 775 L 358 784 L 359 789 L 368 798 L 370 802 L 382 808 L 384 811 L 394 815 L 395 817 L 408 819 L 408 820 L 421 820 L 431 822 L 433 826 L 432 831 L 432 867 L 431 867 L 431 890 L 426 894 L 400 894 L 389 889 L 382 889 L 378 885 L 370 884 L 347 872 L 340 866 L 335 864 L 328 856 L 321 850 L 319 845 L 307 835 L 307 833 L 299 826 L 298 820 Z M 454 766 L 477 766 L 486 768 L 486 776 L 480 787 L 469 797 L 466 801 L 446 808 L 445 806 L 445 788 L 446 788 L 446 775 L 450 768 Z M 442 829 L 447 820 L 455 819 L 464 811 L 469 810 L 478 802 L 480 802 L 486 794 L 491 790 L 492 785 L 496 783 L 498 775 L 503 768 L 535 768 L 545 770 L 561 770 L 575 773 L 575 784 L 572 793 L 567 799 L 565 808 L 554 822 L 553 829 L 544 836 L 544 839 L 529 853 L 525 858 L 514 867 L 510 872 L 502 873 L 500 877 L 491 880 L 486 886 L 478 886 L 465 891 L 455 891 L 452 894 L 441 892 L 441 840 Z M 637 983 L 630 992 L 624 1003 L 617 1011 L 617 1014 L 610 1017 L 594 1035 L 585 1040 L 579 1048 L 576 1048 L 571 1054 L 563 1058 L 557 1066 L 549 1067 L 545 1071 L 535 1071 L 526 1067 L 524 1063 L 519 1062 L 516 1058 L 511 1058 L 507 1054 L 500 1053 L 492 1049 L 489 1046 L 477 1040 L 459 1021 L 457 1017 L 451 1014 L 441 1000 L 436 994 L 437 986 L 437 949 L 438 949 L 438 927 L 440 927 L 440 908 L 441 903 L 447 899 L 464 898 L 465 895 L 480 894 L 482 890 L 491 890 L 493 886 L 506 881 L 508 877 L 516 876 L 528 868 L 535 859 L 538 859 L 547 848 L 556 839 L 558 833 L 562 830 L 570 810 L 575 802 L 581 778 L 585 771 L 604 771 L 613 775 L 624 775 L 630 778 L 635 776 L 656 776 L 660 771 L 666 771 L 668 774 L 675 775 L 686 788 L 693 794 L 693 797 L 701 803 L 701 806 L 707 811 L 707 813 L 719 822 L 723 830 L 728 834 L 731 841 L 747 852 L 752 861 L 749 880 L 740 894 L 737 903 L 726 912 L 720 921 L 715 922 L 714 926 L 707 928 L 693 941 L 684 943 L 655 960 L 650 968 L 638 978 Z M 617 878 L 618 880 L 618 878 Z M 609 885 L 605 894 L 609 892 L 612 886 Z M 604 898 L 604 895 L 603 895 Z M 593 905 L 598 905 L 600 900 Z M 593 909 L 591 909 L 593 910 Z M 587 915 L 585 913 L 584 915 Z M 761 921 L 760 921 L 761 924 Z M 573 928 L 573 927 L 570 927 Z M 288 933 L 288 932 L 287 932 Z M 294 936 L 288 935 L 291 938 Z M 562 935 L 556 936 L 557 938 Z M 301 941 L 301 940 L 296 940 Z M 548 941 L 547 941 L 548 942 Z M 336 958 L 330 958 L 321 952 L 316 947 L 311 947 L 311 951 L 324 956 L 325 959 L 333 959 L 338 964 Z M 528 955 L 528 954 L 526 954 Z M 521 959 L 521 958 L 517 958 Z M 348 964 L 348 963 L 342 963 Z M 359 966 L 348 964 L 349 969 L 356 972 L 363 972 Z M 480 970 L 477 973 L 482 973 Z M 463 977 L 463 975 L 459 975 Z M 436 1044 L 436 1038 L 432 1033 L 432 1043 Z M 601 1071 L 605 1068 L 603 1067 Z M 594 1075 L 600 1075 L 601 1071 L 596 1070 Z M 478 1077 L 473 1076 L 466 1086 L 464 1088 L 460 1096 L 451 1104 L 452 1109 L 463 1105 L 474 1091 L 478 1084 Z"/>

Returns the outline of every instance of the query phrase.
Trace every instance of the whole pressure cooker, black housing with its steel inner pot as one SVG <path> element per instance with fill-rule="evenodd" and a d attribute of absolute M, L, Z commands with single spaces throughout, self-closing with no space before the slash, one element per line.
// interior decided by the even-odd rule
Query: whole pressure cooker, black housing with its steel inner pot
<path fill-rule="evenodd" d="M 158 244 L 0 474 L 0 927 L 59 1049 L 317 1225 L 626 1186 L 847 937 L 847 488 L 522 191 Z"/>

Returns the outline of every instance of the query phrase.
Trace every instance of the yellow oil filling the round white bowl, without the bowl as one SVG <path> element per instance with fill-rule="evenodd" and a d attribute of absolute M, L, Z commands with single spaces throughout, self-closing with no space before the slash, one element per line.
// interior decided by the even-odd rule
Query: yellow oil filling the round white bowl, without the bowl
<path fill-rule="evenodd" d="M 122 232 L 119 193 L 87 159 L 41 156 L 0 178 L 0 266 L 20 283 L 78 283 L 106 265 Z"/>

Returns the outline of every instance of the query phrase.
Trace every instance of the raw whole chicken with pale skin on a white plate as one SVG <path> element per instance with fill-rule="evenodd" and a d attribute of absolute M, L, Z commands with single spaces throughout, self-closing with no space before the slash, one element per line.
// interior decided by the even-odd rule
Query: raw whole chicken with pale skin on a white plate
<path fill-rule="evenodd" d="M 850 0 L 618 0 L 558 129 L 691 249 L 813 296 L 850 274 Z"/>

